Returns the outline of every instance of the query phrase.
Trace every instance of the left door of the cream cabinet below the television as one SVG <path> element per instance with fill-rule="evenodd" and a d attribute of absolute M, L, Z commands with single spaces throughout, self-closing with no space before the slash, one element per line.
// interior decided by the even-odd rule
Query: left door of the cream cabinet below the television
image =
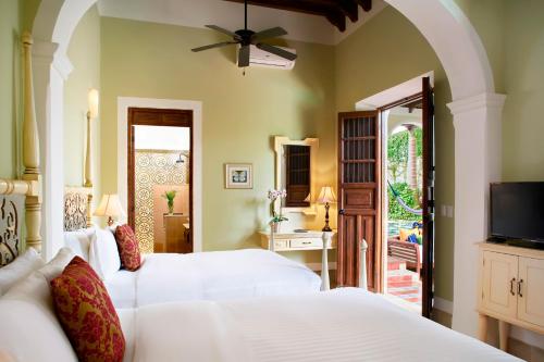
<path fill-rule="evenodd" d="M 493 251 L 483 253 L 482 307 L 516 317 L 518 257 Z"/>

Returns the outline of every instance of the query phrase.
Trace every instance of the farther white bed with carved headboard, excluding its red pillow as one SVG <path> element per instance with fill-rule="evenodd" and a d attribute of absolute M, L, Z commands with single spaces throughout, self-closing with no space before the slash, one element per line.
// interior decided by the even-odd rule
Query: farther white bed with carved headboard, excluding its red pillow
<path fill-rule="evenodd" d="M 262 249 L 143 254 L 140 269 L 120 270 L 112 229 L 89 227 L 90 200 L 86 187 L 65 188 L 64 245 L 99 273 L 116 308 L 298 295 L 322 287 L 321 278 L 306 265 Z M 111 265 L 108 270 L 104 259 Z"/>

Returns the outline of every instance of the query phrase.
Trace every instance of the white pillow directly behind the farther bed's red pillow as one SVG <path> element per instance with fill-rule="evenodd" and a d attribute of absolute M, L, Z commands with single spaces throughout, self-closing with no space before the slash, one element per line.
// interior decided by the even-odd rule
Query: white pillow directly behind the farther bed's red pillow
<path fill-rule="evenodd" d="M 118 242 L 109 228 L 97 228 L 97 237 L 90 242 L 89 264 L 102 280 L 121 269 Z"/>

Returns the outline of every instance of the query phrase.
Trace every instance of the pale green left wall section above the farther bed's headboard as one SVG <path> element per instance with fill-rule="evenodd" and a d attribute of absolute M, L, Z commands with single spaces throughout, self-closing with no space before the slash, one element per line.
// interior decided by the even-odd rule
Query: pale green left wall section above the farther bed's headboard
<path fill-rule="evenodd" d="M 83 186 L 87 137 L 87 93 L 100 90 L 100 15 L 90 8 L 70 41 L 67 57 L 74 66 L 64 84 L 64 184 Z M 100 117 L 91 120 L 94 194 L 99 201 L 100 188 Z"/>

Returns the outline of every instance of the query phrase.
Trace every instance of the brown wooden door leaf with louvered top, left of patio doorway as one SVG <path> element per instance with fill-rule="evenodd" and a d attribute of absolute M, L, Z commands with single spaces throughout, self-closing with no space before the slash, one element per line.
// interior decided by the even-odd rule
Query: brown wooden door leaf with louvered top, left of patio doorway
<path fill-rule="evenodd" d="M 372 112 L 338 115 L 338 286 L 357 286 L 359 244 L 368 244 L 367 276 L 370 290 L 379 291 L 380 237 L 380 122 Z"/>

